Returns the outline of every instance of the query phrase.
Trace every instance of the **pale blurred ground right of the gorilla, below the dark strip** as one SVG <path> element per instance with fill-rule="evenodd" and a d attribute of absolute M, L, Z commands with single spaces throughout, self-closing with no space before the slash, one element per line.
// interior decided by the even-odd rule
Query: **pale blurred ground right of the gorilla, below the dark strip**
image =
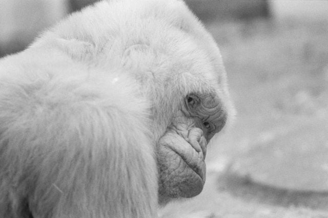
<path fill-rule="evenodd" d="M 328 217 L 328 22 L 212 22 L 238 111 L 162 217 Z"/>

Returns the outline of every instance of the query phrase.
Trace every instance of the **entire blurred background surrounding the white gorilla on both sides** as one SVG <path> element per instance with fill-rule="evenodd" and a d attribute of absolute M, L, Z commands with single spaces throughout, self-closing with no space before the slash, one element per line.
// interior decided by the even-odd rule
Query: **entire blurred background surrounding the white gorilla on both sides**
<path fill-rule="evenodd" d="M 90 0 L 0 0 L 0 56 Z M 162 217 L 328 217 L 328 1 L 186 0 L 217 41 L 238 111 L 207 183 Z"/>

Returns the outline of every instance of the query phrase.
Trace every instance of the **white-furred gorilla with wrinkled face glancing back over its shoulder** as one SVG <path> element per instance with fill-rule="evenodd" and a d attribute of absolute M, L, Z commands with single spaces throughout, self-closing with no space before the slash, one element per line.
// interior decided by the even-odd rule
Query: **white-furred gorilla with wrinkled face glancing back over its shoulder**
<path fill-rule="evenodd" d="M 182 1 L 72 14 L 0 61 L 0 217 L 156 217 L 199 194 L 226 80 Z"/>

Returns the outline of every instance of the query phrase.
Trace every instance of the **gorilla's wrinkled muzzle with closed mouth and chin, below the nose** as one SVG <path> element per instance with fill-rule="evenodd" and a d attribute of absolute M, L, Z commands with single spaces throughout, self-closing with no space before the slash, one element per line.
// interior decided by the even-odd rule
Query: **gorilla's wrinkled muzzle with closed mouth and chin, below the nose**
<path fill-rule="evenodd" d="M 160 195 L 191 198 L 202 191 L 206 179 L 202 151 L 172 131 L 159 140 L 157 155 Z"/>

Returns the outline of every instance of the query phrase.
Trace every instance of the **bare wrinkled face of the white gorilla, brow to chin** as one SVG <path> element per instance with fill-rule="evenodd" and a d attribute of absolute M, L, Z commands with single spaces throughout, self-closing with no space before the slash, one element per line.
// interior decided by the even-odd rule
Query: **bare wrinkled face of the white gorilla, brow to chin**
<path fill-rule="evenodd" d="M 157 145 L 160 203 L 201 192 L 206 180 L 207 143 L 226 119 L 215 93 L 186 96 Z"/>

